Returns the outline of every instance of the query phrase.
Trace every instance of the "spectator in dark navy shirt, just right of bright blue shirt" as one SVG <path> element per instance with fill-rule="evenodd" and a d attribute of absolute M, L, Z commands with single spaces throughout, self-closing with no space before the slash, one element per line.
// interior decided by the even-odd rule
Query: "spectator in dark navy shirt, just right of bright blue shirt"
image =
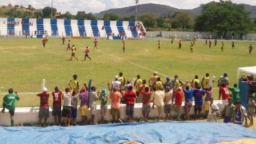
<path fill-rule="evenodd" d="M 201 89 L 201 86 L 198 86 L 196 89 L 193 91 L 193 96 L 194 96 L 194 113 L 196 119 L 200 117 L 200 113 L 202 111 L 202 105 L 203 105 L 203 95 L 205 94 L 205 90 Z"/>

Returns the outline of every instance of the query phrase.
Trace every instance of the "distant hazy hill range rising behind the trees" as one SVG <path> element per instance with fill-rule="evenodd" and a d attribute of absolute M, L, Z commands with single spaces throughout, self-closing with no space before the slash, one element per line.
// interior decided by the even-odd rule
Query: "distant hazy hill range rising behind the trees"
<path fill-rule="evenodd" d="M 244 5 L 245 10 L 250 12 L 249 16 L 252 19 L 256 19 L 256 6 L 245 5 L 245 4 L 241 4 L 241 5 Z M 194 18 L 195 16 L 200 14 L 202 8 L 196 7 L 195 9 L 177 9 L 167 5 L 147 3 L 147 4 L 142 4 L 137 6 L 137 15 L 141 16 L 146 13 L 152 13 L 152 14 L 155 14 L 156 16 L 165 16 L 169 13 L 173 14 L 174 12 L 179 12 L 181 10 L 187 10 L 188 12 L 190 12 L 191 16 Z M 103 17 L 104 14 L 109 14 L 109 13 L 114 13 L 122 17 L 123 16 L 129 17 L 132 15 L 135 15 L 135 6 L 104 10 L 95 15 L 98 17 Z"/>

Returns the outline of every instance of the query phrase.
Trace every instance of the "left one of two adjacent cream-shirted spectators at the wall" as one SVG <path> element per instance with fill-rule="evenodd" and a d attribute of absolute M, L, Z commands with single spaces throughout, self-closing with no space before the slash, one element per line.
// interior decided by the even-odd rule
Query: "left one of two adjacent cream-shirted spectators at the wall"
<path fill-rule="evenodd" d="M 161 108 L 163 107 L 164 98 L 165 98 L 165 93 L 160 89 L 157 89 L 153 94 L 152 109 L 154 109 L 155 105 L 156 107 L 158 107 L 158 120 L 161 120 Z"/>

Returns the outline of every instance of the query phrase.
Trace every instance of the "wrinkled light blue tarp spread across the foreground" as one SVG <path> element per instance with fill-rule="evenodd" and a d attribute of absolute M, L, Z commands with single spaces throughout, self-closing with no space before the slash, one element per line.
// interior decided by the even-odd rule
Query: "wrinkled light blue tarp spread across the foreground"
<path fill-rule="evenodd" d="M 256 139 L 256 131 L 211 122 L 137 122 L 74 126 L 0 127 L 1 143 L 217 143 Z"/>

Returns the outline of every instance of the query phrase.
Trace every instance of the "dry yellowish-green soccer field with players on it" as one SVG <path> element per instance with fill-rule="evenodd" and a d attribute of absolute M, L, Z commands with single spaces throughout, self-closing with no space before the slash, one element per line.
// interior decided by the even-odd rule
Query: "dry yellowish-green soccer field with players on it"
<path fill-rule="evenodd" d="M 35 94 L 41 92 L 41 81 L 46 79 L 49 92 L 58 85 L 62 91 L 68 86 L 67 82 L 74 74 L 78 75 L 80 86 L 89 79 L 98 90 L 106 88 L 106 83 L 111 82 L 115 75 L 123 72 L 125 79 L 132 80 L 141 75 L 148 79 L 153 71 L 163 81 L 166 76 L 171 78 L 179 75 L 182 82 L 200 79 L 209 73 L 218 79 L 227 72 L 230 85 L 236 81 L 238 67 L 255 65 L 256 52 L 248 52 L 249 44 L 253 42 L 235 42 L 236 48 L 231 49 L 231 41 L 224 41 L 224 52 L 221 52 L 221 41 L 216 47 L 210 49 L 205 42 L 196 42 L 194 52 L 190 53 L 190 42 L 184 41 L 182 48 L 178 49 L 178 41 L 161 41 L 161 50 L 158 50 L 158 41 L 130 40 L 125 41 L 126 52 L 122 51 L 121 41 L 98 40 L 98 49 L 93 49 L 93 39 L 71 39 L 71 45 L 77 47 L 78 61 L 70 61 L 70 52 L 66 52 L 66 44 L 62 45 L 61 39 L 49 39 L 46 48 L 43 48 L 41 39 L 0 39 L 0 93 L 3 96 L 9 88 L 20 92 L 20 101 L 17 107 L 39 106 L 39 98 Z M 91 47 L 89 56 L 92 61 L 84 59 L 85 46 Z M 213 84 L 217 88 L 217 82 Z M 23 94 L 22 94 L 23 93 Z M 217 98 L 215 89 L 213 96 Z M 50 98 L 51 105 L 52 98 Z"/>

